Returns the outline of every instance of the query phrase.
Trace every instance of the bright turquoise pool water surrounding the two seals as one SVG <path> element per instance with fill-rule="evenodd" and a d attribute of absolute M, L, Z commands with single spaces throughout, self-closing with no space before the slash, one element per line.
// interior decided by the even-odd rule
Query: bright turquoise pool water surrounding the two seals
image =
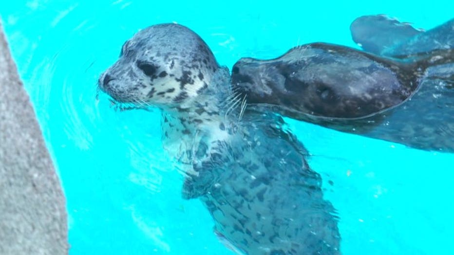
<path fill-rule="evenodd" d="M 138 29 L 176 21 L 202 36 L 229 68 L 298 44 L 356 47 L 349 25 L 385 13 L 416 27 L 453 18 L 452 1 L 2 1 L 0 15 L 67 198 L 72 255 L 232 254 L 163 152 L 158 111 L 114 111 L 97 100 L 98 75 Z M 332 180 L 343 254 L 448 254 L 454 154 L 287 120 Z"/>

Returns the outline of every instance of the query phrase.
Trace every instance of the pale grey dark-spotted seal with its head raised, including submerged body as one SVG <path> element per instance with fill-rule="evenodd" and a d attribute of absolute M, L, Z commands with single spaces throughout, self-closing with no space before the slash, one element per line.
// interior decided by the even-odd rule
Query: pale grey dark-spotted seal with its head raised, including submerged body
<path fill-rule="evenodd" d="M 99 78 L 118 104 L 162 111 L 163 144 L 215 233 L 240 254 L 339 254 L 335 209 L 282 118 L 245 109 L 206 43 L 177 24 L 134 35 Z"/>

